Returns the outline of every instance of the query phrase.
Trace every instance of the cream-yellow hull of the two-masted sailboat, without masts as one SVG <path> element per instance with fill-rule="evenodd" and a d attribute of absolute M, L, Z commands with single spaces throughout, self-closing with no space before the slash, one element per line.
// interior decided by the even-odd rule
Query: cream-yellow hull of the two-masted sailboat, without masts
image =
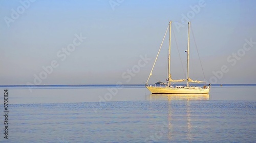
<path fill-rule="evenodd" d="M 199 87 L 146 87 L 152 94 L 209 94 L 210 88 Z"/>

